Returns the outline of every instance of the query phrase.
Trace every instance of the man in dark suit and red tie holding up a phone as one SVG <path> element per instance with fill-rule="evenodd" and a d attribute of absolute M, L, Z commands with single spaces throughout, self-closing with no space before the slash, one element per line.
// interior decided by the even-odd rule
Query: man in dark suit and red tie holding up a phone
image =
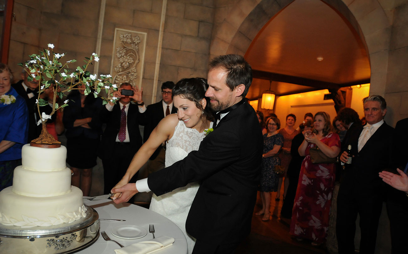
<path fill-rule="evenodd" d="M 131 90 L 134 95 L 122 95 L 122 90 Z M 133 155 L 142 146 L 140 112 L 146 109 L 142 105 L 142 91 L 133 88 L 130 83 L 122 83 L 118 91 L 113 92 L 113 97 L 120 98 L 118 103 L 107 103 L 101 113 L 102 120 L 106 122 L 99 151 L 104 168 L 104 193 L 110 193 L 122 179 Z M 130 103 L 131 99 L 138 105 Z M 136 178 L 137 174 L 134 180 Z"/>

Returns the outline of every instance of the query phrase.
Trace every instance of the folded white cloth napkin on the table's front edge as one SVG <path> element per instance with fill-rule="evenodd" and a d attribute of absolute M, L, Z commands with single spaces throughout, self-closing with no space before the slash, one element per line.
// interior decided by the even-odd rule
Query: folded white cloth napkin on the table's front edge
<path fill-rule="evenodd" d="M 133 243 L 129 246 L 115 250 L 116 254 L 150 254 L 167 248 L 174 243 L 173 237 L 159 236 L 150 241 Z"/>

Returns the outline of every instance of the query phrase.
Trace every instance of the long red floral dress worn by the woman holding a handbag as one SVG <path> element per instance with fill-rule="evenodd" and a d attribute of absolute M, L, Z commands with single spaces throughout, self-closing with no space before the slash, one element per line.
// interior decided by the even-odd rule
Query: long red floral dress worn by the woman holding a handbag
<path fill-rule="evenodd" d="M 322 138 L 329 147 L 340 147 L 339 135 L 330 133 Z M 335 184 L 335 164 L 313 164 L 309 150 L 300 169 L 295 203 L 293 204 L 290 234 L 322 243 L 326 239 L 333 188 Z"/>

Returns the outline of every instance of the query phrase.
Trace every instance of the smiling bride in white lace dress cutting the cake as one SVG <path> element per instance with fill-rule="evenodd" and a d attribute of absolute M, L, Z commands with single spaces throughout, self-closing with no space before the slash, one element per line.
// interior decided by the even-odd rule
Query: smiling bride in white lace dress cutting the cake
<path fill-rule="evenodd" d="M 202 78 L 181 79 L 177 82 L 173 88 L 173 105 L 177 108 L 177 115 L 170 114 L 160 121 L 149 139 L 133 157 L 122 180 L 112 189 L 128 184 L 132 176 L 164 141 L 166 141 L 166 167 L 182 160 L 189 152 L 198 150 L 200 142 L 206 135 L 204 129 L 213 125 L 210 121 L 213 113 L 210 107 L 206 107 L 208 99 L 204 96 L 207 88 L 207 81 Z M 193 251 L 195 239 L 186 233 L 185 224 L 198 187 L 199 184 L 195 182 L 160 197 L 153 194 L 150 204 L 150 210 L 167 217 L 183 231 L 187 239 L 188 253 Z M 121 193 L 116 193 L 113 199 L 120 195 Z"/>

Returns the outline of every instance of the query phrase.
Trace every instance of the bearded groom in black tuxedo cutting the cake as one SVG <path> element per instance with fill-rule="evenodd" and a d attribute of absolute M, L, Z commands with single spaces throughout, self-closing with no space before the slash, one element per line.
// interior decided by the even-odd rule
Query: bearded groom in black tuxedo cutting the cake
<path fill-rule="evenodd" d="M 223 55 L 213 59 L 205 95 L 220 119 L 214 131 L 184 160 L 136 185 L 113 189 L 122 193 L 114 202 L 127 201 L 140 191 L 152 190 L 160 196 L 200 181 L 186 221 L 186 231 L 197 239 L 193 254 L 232 253 L 251 230 L 262 158 L 257 116 L 244 102 L 251 82 L 251 66 L 244 57 Z"/>

